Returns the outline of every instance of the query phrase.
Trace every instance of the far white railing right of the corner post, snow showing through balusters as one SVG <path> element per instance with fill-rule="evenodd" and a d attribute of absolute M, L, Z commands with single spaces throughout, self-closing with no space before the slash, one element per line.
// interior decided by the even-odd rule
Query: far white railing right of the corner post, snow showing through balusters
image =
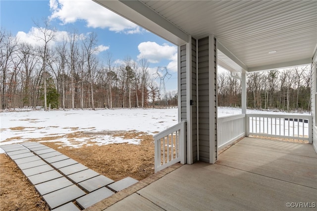
<path fill-rule="evenodd" d="M 307 140 L 312 144 L 311 115 L 246 114 L 246 136 Z"/>

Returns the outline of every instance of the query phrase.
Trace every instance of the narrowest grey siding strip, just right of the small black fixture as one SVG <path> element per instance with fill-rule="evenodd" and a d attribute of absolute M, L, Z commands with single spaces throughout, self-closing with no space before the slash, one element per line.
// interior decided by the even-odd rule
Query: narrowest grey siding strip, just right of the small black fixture
<path fill-rule="evenodd" d="M 192 141 L 193 141 L 193 162 L 197 161 L 197 80 L 196 80 L 196 40 L 192 38 Z"/>

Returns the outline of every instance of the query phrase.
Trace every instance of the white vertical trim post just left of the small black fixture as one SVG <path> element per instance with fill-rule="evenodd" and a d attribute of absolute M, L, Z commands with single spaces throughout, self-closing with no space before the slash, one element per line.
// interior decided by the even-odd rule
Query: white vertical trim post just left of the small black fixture
<path fill-rule="evenodd" d="M 192 127 L 192 37 L 186 44 L 186 119 L 187 119 L 187 163 L 193 163 L 193 127 Z"/>

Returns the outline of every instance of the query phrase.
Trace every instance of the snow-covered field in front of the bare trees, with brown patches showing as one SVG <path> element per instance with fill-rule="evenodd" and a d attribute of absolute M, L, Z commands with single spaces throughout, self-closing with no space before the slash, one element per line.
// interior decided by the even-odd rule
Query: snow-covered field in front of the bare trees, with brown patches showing
<path fill-rule="evenodd" d="M 239 113 L 241 108 L 218 107 L 218 117 Z M 247 113 L 285 114 L 263 110 L 248 110 Z M 139 144 L 140 139 L 123 139 L 113 135 L 118 131 L 132 130 L 153 135 L 176 124 L 177 116 L 177 108 L 0 112 L 0 146 L 43 137 L 71 147 L 92 142 L 91 136 L 66 137 L 74 133 L 93 134 L 93 142 L 99 145 L 123 142 Z"/>

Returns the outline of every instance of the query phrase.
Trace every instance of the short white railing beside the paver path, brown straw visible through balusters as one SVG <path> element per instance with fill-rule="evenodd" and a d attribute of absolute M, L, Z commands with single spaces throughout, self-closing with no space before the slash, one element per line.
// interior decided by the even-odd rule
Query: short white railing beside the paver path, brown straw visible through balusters
<path fill-rule="evenodd" d="M 155 172 L 162 170 L 176 162 L 186 162 L 186 121 L 156 134 L 154 137 Z"/>

